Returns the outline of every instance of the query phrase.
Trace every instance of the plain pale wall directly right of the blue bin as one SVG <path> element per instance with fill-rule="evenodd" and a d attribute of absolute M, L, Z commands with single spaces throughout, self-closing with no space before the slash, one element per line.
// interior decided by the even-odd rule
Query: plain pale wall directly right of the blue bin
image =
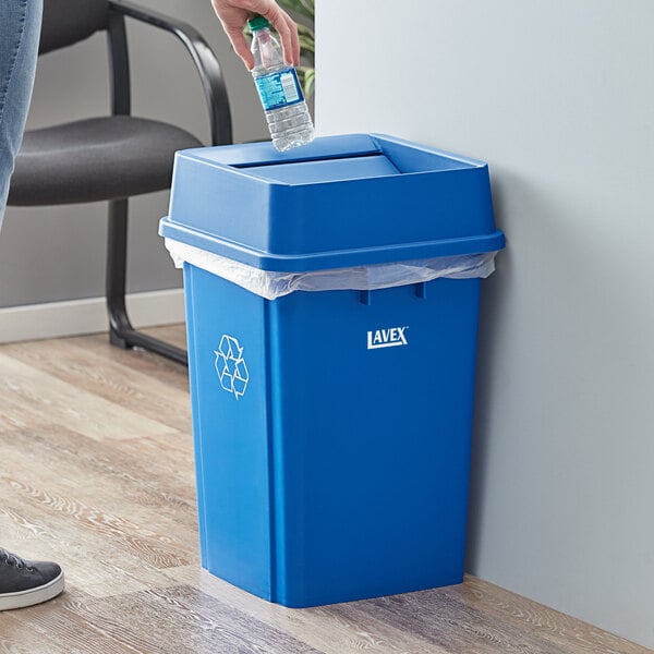
<path fill-rule="evenodd" d="M 317 4 L 319 133 L 491 166 L 470 571 L 654 647 L 654 2 Z"/>

